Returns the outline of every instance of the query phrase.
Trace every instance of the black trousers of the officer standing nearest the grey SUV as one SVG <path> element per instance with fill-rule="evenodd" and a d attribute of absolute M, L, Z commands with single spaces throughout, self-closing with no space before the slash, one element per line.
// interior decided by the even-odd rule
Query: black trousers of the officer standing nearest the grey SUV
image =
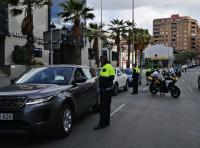
<path fill-rule="evenodd" d="M 110 124 L 110 105 L 111 105 L 111 91 L 100 92 L 100 121 L 99 124 L 106 126 Z"/>

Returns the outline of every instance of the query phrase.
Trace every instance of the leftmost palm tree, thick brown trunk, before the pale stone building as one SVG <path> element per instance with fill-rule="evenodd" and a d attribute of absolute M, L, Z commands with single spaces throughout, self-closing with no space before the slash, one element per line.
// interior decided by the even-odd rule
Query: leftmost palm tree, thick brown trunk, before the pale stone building
<path fill-rule="evenodd" d="M 26 48 L 28 50 L 28 64 L 32 64 L 34 49 L 34 26 L 33 8 L 40 9 L 44 5 L 49 5 L 50 0 L 1 0 L 1 4 L 10 4 L 14 8 L 10 10 L 13 16 L 19 16 L 24 12 L 24 19 L 21 24 L 22 35 L 26 36 Z"/>

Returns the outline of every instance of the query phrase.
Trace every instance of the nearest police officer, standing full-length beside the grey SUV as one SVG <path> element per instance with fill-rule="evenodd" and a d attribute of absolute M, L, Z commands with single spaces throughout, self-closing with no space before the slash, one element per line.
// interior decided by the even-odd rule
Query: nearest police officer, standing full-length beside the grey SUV
<path fill-rule="evenodd" d="M 112 97 L 113 80 L 115 77 L 115 69 L 108 62 L 107 57 L 101 56 L 100 61 L 102 68 L 99 77 L 100 89 L 100 121 L 95 130 L 103 129 L 110 125 L 110 105 Z"/>

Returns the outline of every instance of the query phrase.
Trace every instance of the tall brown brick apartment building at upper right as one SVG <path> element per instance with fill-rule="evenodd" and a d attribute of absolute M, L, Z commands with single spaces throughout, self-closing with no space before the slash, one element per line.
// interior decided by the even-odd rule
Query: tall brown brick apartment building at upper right
<path fill-rule="evenodd" d="M 189 16 L 171 15 L 153 20 L 153 44 L 163 44 L 177 51 L 200 52 L 200 26 Z"/>

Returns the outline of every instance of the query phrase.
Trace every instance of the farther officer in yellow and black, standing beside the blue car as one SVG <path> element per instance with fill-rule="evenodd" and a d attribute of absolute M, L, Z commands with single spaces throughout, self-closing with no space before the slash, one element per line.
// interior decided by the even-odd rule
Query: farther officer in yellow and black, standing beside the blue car
<path fill-rule="evenodd" d="M 133 67 L 133 92 L 131 94 L 138 94 L 138 79 L 139 79 L 139 73 L 140 73 L 140 69 L 138 67 L 136 67 L 136 65 L 134 64 Z"/>

